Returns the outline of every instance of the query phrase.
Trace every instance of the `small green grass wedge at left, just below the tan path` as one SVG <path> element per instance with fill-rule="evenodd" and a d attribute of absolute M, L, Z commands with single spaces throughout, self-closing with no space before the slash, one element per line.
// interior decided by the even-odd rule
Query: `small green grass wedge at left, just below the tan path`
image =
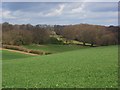
<path fill-rule="evenodd" d="M 32 56 L 17 53 L 17 52 L 2 50 L 2 60 L 13 60 L 13 59 L 20 59 L 20 58 L 28 58 L 28 57 L 32 57 Z"/>

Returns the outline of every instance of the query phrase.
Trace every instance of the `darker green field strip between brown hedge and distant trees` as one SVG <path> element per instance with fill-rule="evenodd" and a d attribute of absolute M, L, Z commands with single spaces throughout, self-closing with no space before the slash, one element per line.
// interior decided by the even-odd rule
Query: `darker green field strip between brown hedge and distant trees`
<path fill-rule="evenodd" d="M 51 53 L 59 53 L 59 52 L 88 48 L 88 46 L 85 47 L 85 46 L 80 46 L 80 45 L 55 45 L 55 44 L 26 45 L 24 47 L 28 49 L 42 50 L 42 51 L 51 52 Z"/>

